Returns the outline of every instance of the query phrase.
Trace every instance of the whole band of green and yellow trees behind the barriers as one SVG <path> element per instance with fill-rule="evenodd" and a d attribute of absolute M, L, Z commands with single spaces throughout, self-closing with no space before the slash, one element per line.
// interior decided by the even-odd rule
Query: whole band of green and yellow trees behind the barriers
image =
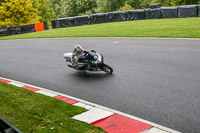
<path fill-rule="evenodd" d="M 200 0 L 0 0 L 0 27 L 21 26 L 38 22 L 104 13 L 148 8 L 200 4 Z"/>

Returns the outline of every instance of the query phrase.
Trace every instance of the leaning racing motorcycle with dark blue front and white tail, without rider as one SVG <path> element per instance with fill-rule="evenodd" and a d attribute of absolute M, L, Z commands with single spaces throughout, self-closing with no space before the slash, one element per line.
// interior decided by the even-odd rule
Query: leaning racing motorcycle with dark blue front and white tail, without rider
<path fill-rule="evenodd" d="M 113 69 L 107 64 L 104 64 L 104 58 L 102 54 L 92 50 L 90 52 L 84 52 L 79 62 L 84 65 L 80 68 L 74 64 L 73 53 L 64 53 L 63 57 L 66 62 L 69 62 L 68 67 L 78 71 L 103 71 L 108 74 L 112 74 Z"/>

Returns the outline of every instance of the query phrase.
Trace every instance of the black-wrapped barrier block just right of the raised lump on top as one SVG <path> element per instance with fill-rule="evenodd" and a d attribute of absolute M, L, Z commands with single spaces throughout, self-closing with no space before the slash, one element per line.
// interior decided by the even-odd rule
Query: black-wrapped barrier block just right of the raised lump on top
<path fill-rule="evenodd" d="M 162 18 L 178 18 L 178 7 L 161 7 Z"/>

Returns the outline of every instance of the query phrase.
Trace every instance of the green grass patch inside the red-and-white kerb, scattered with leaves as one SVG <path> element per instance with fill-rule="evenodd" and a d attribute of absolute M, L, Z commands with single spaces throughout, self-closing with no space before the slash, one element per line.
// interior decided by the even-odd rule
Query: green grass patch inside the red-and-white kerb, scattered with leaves
<path fill-rule="evenodd" d="M 0 83 L 0 116 L 24 133 L 103 133 L 71 117 L 83 108 L 26 89 Z"/>

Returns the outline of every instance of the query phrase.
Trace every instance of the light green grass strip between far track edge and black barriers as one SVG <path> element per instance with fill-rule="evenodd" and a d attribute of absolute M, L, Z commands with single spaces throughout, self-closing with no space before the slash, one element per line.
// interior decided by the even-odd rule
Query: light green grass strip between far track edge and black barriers
<path fill-rule="evenodd" d="M 76 26 L 23 35 L 5 36 L 0 37 L 0 40 L 57 37 L 200 38 L 200 17 L 137 20 Z"/>

